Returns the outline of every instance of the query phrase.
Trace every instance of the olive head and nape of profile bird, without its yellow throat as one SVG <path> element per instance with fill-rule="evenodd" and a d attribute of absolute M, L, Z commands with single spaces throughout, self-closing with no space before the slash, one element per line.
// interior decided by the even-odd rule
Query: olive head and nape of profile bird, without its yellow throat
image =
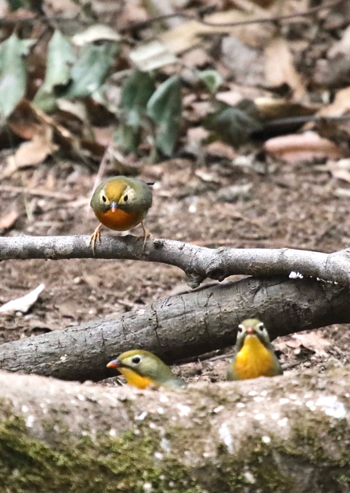
<path fill-rule="evenodd" d="M 169 386 L 173 386 L 177 382 L 175 385 L 177 387 L 186 385 L 185 382 L 176 378 L 170 368 L 158 356 L 141 349 L 123 352 L 117 359 L 108 363 L 107 367 L 128 368 L 141 375 L 141 377 L 147 377 L 158 384 L 169 383 Z"/>

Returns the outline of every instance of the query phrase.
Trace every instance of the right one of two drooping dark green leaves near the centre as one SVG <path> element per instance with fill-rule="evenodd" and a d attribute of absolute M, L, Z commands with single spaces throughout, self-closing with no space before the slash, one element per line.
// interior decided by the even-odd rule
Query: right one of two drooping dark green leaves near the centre
<path fill-rule="evenodd" d="M 181 83 L 177 75 L 163 82 L 147 103 L 147 114 L 156 124 L 156 147 L 171 156 L 179 136 Z"/>

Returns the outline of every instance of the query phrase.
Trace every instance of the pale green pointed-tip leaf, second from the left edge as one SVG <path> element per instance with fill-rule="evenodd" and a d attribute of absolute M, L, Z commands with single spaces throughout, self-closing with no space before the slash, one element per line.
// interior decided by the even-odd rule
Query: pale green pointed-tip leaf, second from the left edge
<path fill-rule="evenodd" d="M 75 55 L 70 42 L 57 29 L 49 42 L 45 80 L 33 100 L 36 106 L 47 113 L 57 109 L 56 88 L 68 84 L 74 62 Z"/>

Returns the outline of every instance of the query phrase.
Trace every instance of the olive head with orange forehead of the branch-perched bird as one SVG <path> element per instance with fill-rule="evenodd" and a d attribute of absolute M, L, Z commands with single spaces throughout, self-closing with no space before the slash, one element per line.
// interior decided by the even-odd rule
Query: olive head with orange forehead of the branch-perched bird
<path fill-rule="evenodd" d="M 126 212 L 147 212 L 152 205 L 149 185 L 137 178 L 113 176 L 98 185 L 90 202 L 95 212 L 122 209 Z"/>

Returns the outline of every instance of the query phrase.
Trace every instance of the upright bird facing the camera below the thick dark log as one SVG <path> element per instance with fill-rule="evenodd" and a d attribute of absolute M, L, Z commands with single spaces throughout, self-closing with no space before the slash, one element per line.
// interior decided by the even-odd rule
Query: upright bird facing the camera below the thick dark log
<path fill-rule="evenodd" d="M 257 318 L 247 318 L 238 325 L 234 349 L 235 355 L 227 370 L 227 380 L 282 375 L 283 370 L 266 327 Z"/>

